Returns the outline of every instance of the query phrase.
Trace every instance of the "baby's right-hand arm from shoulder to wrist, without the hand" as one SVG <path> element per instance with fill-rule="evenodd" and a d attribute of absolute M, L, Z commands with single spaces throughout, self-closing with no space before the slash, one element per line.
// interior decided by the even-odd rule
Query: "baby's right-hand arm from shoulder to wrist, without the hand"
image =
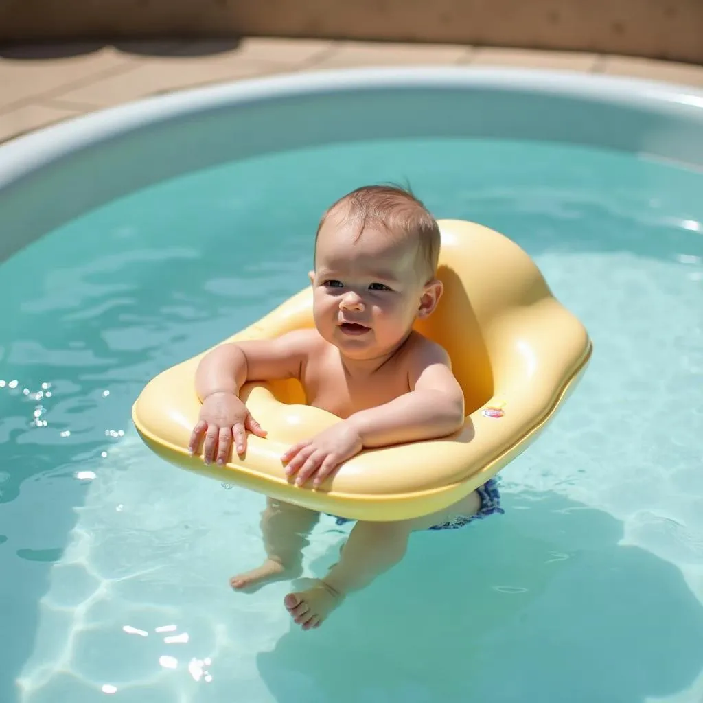
<path fill-rule="evenodd" d="M 449 354 L 433 342 L 418 349 L 408 369 L 411 391 L 351 415 L 363 446 L 378 447 L 446 437 L 464 422 L 464 394 L 451 373 Z"/>

